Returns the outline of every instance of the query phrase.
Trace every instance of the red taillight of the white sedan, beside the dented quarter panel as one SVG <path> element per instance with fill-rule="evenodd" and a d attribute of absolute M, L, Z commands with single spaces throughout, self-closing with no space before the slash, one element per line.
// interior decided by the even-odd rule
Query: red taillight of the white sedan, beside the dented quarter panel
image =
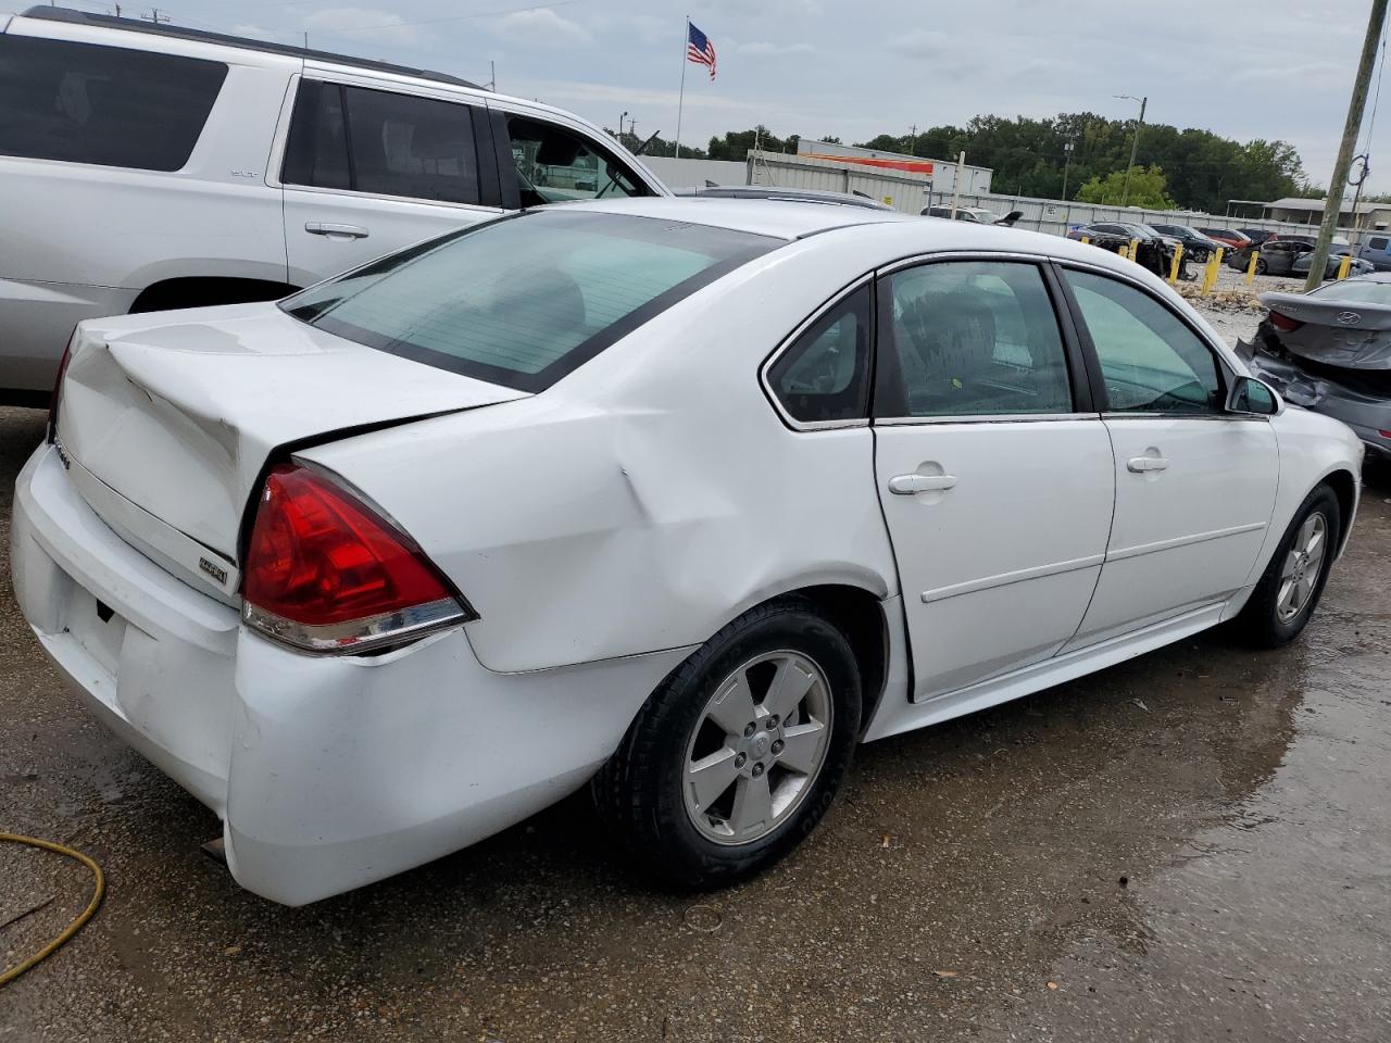
<path fill-rule="evenodd" d="M 242 573 L 242 619 L 285 644 L 357 652 L 474 619 L 420 548 L 316 469 L 266 478 Z"/>

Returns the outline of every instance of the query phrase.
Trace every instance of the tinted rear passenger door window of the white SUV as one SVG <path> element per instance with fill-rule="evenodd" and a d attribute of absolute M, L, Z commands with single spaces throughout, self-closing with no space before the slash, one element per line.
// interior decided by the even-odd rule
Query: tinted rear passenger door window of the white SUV
<path fill-rule="evenodd" d="M 473 108 L 306 79 L 289 121 L 281 181 L 477 203 Z"/>

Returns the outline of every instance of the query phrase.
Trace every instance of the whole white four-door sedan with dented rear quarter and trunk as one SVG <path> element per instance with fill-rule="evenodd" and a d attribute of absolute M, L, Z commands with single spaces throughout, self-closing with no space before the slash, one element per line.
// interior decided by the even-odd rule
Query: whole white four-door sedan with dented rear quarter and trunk
<path fill-rule="evenodd" d="M 857 743 L 1291 640 L 1362 459 L 1125 260 L 787 202 L 541 209 L 83 323 L 57 391 L 19 605 L 287 904 L 587 783 L 662 876 L 739 879 Z"/>

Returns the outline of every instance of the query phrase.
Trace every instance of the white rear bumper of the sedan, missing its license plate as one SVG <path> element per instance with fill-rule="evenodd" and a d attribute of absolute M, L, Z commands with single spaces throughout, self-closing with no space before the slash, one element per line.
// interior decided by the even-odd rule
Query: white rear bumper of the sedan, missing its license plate
<path fill-rule="evenodd" d="M 376 658 L 292 652 L 122 542 L 51 446 L 19 474 L 11 541 L 19 606 L 68 684 L 217 812 L 236 882 L 288 905 L 580 787 L 686 655 L 495 674 L 462 630 Z"/>

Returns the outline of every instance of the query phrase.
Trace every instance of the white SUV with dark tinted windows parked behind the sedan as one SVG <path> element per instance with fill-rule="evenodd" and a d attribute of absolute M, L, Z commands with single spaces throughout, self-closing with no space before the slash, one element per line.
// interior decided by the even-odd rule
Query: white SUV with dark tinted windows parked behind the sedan
<path fill-rule="evenodd" d="M 267 300 L 505 210 L 669 195 L 455 76 L 61 7 L 0 15 L 0 402 L 95 316 Z"/>

